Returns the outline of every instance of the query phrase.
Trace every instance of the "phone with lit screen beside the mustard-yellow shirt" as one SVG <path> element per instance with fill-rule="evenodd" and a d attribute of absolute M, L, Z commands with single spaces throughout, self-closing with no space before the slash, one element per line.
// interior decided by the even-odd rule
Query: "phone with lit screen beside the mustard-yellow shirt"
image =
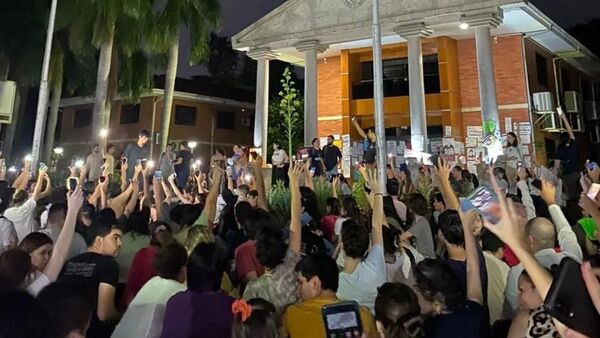
<path fill-rule="evenodd" d="M 321 309 L 325 337 L 359 338 L 362 335 L 360 309 L 355 301 L 325 305 Z"/>

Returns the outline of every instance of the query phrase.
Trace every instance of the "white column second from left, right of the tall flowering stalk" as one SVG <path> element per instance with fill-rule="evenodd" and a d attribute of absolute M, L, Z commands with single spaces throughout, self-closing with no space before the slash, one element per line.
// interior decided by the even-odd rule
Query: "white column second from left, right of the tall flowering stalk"
<path fill-rule="evenodd" d="M 317 40 L 300 41 L 294 45 L 304 53 L 304 145 L 318 137 L 317 54 L 326 47 Z"/>

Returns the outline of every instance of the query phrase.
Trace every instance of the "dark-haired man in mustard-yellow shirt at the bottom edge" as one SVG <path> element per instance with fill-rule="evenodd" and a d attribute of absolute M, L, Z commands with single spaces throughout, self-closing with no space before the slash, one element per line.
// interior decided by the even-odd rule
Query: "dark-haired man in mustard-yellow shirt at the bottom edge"
<path fill-rule="evenodd" d="M 282 320 L 282 337 L 323 337 L 325 323 L 321 309 L 336 304 L 338 291 L 337 266 L 333 258 L 326 255 L 308 255 L 297 265 L 300 301 L 290 305 Z M 364 337 L 377 338 L 377 329 L 369 310 L 360 307 L 360 320 Z"/>

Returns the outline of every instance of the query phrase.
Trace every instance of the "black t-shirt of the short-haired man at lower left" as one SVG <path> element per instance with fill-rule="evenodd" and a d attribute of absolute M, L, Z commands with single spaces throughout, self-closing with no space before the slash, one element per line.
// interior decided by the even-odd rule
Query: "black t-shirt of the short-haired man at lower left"
<path fill-rule="evenodd" d="M 93 299 L 92 321 L 87 337 L 110 337 L 116 323 L 101 322 L 98 319 L 98 289 L 100 283 L 117 287 L 119 283 L 119 267 L 111 256 L 93 252 L 82 253 L 68 260 L 58 278 L 59 282 L 80 282 L 89 290 Z"/>

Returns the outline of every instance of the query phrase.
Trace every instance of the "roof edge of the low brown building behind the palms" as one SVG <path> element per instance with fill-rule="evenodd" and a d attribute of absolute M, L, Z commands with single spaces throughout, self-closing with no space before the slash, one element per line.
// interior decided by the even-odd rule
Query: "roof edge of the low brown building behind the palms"
<path fill-rule="evenodd" d="M 163 89 L 154 88 L 154 89 L 152 89 L 152 91 L 142 94 L 140 96 L 140 98 L 144 98 L 144 97 L 162 98 L 164 96 L 164 92 L 165 91 Z M 186 92 L 175 91 L 173 93 L 173 98 L 180 99 L 180 100 L 188 100 L 188 101 L 193 101 L 193 102 L 214 104 L 214 105 L 219 105 L 219 106 L 248 109 L 248 110 L 254 109 L 254 103 L 238 101 L 238 100 L 231 100 L 231 99 L 223 99 L 223 98 L 213 97 L 213 96 L 198 95 L 198 94 L 192 94 L 192 93 L 186 93 Z M 119 101 L 121 99 L 122 98 L 119 96 L 117 96 L 115 98 L 116 101 Z M 89 104 L 93 104 L 93 103 L 94 103 L 94 97 L 83 97 L 83 96 L 69 97 L 69 98 L 60 100 L 60 108 L 83 106 L 83 105 L 89 105 Z"/>

